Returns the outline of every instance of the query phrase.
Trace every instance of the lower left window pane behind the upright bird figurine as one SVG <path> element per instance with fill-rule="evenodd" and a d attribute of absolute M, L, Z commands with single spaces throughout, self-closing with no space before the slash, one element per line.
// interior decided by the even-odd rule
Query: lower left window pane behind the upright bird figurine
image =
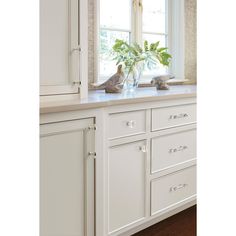
<path fill-rule="evenodd" d="M 114 74 L 117 70 L 116 62 L 112 60 L 111 56 L 111 49 L 116 39 L 123 39 L 129 42 L 130 33 L 110 30 L 100 31 L 100 75 L 106 78 Z"/>

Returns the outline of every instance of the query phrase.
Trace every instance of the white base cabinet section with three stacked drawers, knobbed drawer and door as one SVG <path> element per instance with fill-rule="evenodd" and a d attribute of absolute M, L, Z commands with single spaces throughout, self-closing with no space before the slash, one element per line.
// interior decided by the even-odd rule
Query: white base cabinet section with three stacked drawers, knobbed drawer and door
<path fill-rule="evenodd" d="M 105 235 L 132 235 L 194 204 L 195 100 L 111 107 L 107 121 Z"/>

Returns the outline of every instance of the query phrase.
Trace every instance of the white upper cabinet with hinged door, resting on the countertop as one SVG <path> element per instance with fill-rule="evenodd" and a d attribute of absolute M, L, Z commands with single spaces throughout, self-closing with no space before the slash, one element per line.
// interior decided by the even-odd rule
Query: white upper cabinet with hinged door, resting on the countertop
<path fill-rule="evenodd" d="M 87 95 L 87 1 L 40 0 L 40 94 Z"/>

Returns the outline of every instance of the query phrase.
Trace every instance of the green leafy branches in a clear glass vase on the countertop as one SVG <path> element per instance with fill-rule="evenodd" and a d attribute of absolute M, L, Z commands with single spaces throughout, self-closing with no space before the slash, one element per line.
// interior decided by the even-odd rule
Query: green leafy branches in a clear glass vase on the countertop
<path fill-rule="evenodd" d="M 169 66 L 171 55 L 168 48 L 159 47 L 160 42 L 148 44 L 144 41 L 143 48 L 137 44 L 129 45 L 124 40 L 116 39 L 112 47 L 113 60 L 125 70 L 124 86 L 128 90 L 138 87 L 140 76 L 145 68 L 153 69 L 157 64 Z"/>

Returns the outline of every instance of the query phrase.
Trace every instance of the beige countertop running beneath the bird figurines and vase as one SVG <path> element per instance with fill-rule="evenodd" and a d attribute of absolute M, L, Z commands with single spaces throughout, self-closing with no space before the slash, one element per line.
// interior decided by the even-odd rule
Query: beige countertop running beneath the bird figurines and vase
<path fill-rule="evenodd" d="M 121 104 L 151 102 L 175 98 L 196 96 L 196 85 L 170 86 L 169 90 L 156 88 L 138 88 L 133 93 L 106 94 L 104 90 L 89 91 L 88 98 L 80 99 L 79 94 L 54 95 L 40 97 L 40 113 L 52 113 L 92 109 Z"/>

